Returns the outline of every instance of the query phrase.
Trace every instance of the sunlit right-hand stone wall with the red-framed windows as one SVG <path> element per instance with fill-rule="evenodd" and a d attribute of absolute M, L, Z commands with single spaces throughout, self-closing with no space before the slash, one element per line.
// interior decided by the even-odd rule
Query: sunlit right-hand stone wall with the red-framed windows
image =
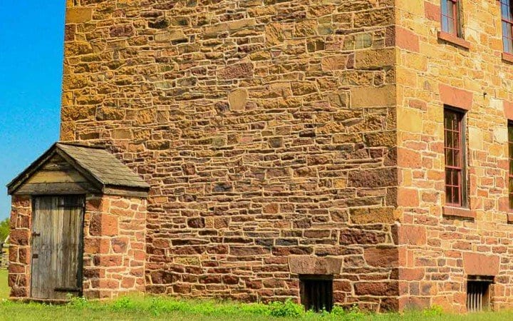
<path fill-rule="evenodd" d="M 465 312 L 467 276 L 495 275 L 492 305 L 510 308 L 503 106 L 513 100 L 513 66 L 502 60 L 499 2 L 461 1 L 460 45 L 437 36 L 440 1 L 396 2 L 400 305 Z M 444 104 L 468 110 L 469 210 L 444 208 Z"/>

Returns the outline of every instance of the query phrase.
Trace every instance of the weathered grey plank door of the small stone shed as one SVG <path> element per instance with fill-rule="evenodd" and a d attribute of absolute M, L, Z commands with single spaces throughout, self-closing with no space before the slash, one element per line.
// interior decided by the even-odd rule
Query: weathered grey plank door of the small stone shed
<path fill-rule="evenodd" d="M 82 195 L 33 198 L 31 297 L 81 295 L 83 213 Z"/>

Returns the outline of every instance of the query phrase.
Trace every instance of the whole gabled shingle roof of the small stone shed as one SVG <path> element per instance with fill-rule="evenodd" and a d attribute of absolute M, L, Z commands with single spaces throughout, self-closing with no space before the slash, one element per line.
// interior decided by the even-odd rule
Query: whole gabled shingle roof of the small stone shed
<path fill-rule="evenodd" d="M 142 180 L 139 175 L 127 165 L 121 163 L 112 153 L 104 147 L 83 146 L 76 143 L 55 143 L 38 158 L 26 170 L 18 175 L 7 185 L 9 194 L 13 194 L 23 185 L 28 178 L 37 172 L 50 158 L 60 155 L 73 168 L 82 173 L 86 178 L 95 180 L 105 193 L 108 189 L 129 189 L 147 191 L 150 185 Z"/>

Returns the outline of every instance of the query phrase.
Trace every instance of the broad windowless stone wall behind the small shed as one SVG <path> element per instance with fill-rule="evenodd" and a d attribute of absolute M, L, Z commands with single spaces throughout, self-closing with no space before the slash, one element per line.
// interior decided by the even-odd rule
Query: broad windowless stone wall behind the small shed
<path fill-rule="evenodd" d="M 397 308 L 393 4 L 68 1 L 61 139 L 152 185 L 148 292 L 297 300 L 321 260 Z"/>

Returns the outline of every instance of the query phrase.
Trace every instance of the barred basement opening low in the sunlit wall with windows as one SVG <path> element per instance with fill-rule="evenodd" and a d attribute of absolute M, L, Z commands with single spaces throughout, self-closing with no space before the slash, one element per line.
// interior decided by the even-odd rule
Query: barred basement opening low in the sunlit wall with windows
<path fill-rule="evenodd" d="M 493 277 L 471 276 L 467 280 L 467 312 L 487 311 Z"/>

